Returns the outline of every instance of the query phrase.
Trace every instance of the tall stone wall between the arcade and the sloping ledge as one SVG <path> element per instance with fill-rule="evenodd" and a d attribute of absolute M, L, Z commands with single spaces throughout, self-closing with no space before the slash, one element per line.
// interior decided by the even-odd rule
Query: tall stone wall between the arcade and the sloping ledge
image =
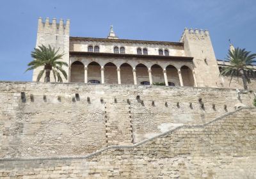
<path fill-rule="evenodd" d="M 235 106 L 251 107 L 254 95 L 220 88 L 0 82 L 0 97 L 0 157 L 13 158 L 80 156 L 139 143 L 180 125 L 206 123 Z"/>

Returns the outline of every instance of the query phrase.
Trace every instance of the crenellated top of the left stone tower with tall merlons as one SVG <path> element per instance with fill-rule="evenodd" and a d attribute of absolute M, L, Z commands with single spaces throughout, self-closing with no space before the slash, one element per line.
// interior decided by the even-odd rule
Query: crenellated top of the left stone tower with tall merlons
<path fill-rule="evenodd" d="M 43 22 L 42 17 L 38 18 L 38 33 L 54 31 L 54 33 L 63 32 L 69 34 L 69 28 L 69 19 L 67 19 L 66 24 L 64 24 L 63 19 L 60 19 L 59 23 L 57 23 L 56 18 L 52 19 L 52 22 L 50 22 L 49 17 L 45 19 L 45 22 Z"/>

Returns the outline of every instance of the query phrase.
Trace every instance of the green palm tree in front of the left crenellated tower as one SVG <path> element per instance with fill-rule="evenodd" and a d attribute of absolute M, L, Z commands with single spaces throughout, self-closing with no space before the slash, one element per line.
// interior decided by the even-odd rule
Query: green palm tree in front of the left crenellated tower
<path fill-rule="evenodd" d="M 49 47 L 45 47 L 44 45 L 38 46 L 38 48 L 35 48 L 35 51 L 31 52 L 31 57 L 34 58 L 34 60 L 28 63 L 29 68 L 26 70 L 26 72 L 28 70 L 33 70 L 40 66 L 44 66 L 44 69 L 39 72 L 36 81 L 40 81 L 45 73 L 44 81 L 50 82 L 51 71 L 55 81 L 57 77 L 58 82 L 62 82 L 60 72 L 61 74 L 63 74 L 65 79 L 67 79 L 67 73 L 65 72 L 65 70 L 63 70 L 62 66 L 68 66 L 68 64 L 63 61 L 57 61 L 58 59 L 61 59 L 64 55 L 58 54 L 58 51 L 59 49 L 55 51 L 55 49 L 52 48 L 50 45 Z"/>

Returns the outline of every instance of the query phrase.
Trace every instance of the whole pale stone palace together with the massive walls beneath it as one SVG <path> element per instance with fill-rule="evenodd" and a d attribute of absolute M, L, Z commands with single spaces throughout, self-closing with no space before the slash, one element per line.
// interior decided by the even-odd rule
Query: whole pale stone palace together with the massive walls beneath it
<path fill-rule="evenodd" d="M 67 81 L 0 81 L 0 178 L 255 178 L 255 74 L 229 86 L 209 31 L 159 42 L 69 28 L 40 18 L 36 39 L 65 53 Z"/>

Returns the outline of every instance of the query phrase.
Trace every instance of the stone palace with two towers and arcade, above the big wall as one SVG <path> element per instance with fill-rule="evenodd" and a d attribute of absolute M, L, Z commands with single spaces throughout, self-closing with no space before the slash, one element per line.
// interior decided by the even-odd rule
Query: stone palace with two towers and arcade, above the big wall
<path fill-rule="evenodd" d="M 38 20 L 36 46 L 49 44 L 65 53 L 66 82 L 229 87 L 219 70 L 228 63 L 216 60 L 207 30 L 185 29 L 179 42 L 120 39 L 113 26 L 107 38 L 75 37 L 69 31 L 69 20 Z M 34 70 L 33 81 L 40 70 Z M 243 82 L 235 79 L 231 87 L 243 88 Z M 253 87 L 254 79 L 249 88 Z"/>

